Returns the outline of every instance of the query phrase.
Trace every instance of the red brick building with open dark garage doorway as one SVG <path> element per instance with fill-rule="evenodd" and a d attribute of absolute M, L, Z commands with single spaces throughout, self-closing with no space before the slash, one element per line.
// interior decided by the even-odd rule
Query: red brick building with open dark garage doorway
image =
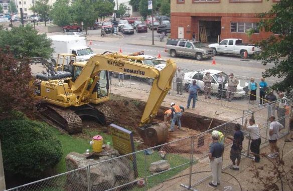
<path fill-rule="evenodd" d="M 256 13 L 269 11 L 279 0 L 172 0 L 171 37 L 191 39 L 205 28 L 208 42 L 220 39 L 241 38 L 244 42 L 267 38 L 270 33 L 256 32 L 248 37 L 245 33 L 256 28 L 259 19 Z"/>

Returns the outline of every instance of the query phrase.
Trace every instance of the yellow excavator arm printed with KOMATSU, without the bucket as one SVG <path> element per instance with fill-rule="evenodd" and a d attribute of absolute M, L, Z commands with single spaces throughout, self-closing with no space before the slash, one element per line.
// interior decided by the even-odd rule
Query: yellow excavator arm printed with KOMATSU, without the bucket
<path fill-rule="evenodd" d="M 172 79 L 176 72 L 176 63 L 167 60 L 166 67 L 159 71 L 157 68 L 129 61 L 130 59 L 144 60 L 143 57 L 123 56 L 117 53 L 102 54 L 91 57 L 84 66 L 81 74 L 72 84 L 71 90 L 79 95 L 79 101 L 88 102 L 88 95 L 92 88 L 88 89 L 91 79 L 94 83 L 98 80 L 100 71 L 110 71 L 128 74 L 142 78 L 154 78 L 151 92 L 145 105 L 139 126 L 149 124 L 156 117 L 168 91 L 172 87 Z"/>

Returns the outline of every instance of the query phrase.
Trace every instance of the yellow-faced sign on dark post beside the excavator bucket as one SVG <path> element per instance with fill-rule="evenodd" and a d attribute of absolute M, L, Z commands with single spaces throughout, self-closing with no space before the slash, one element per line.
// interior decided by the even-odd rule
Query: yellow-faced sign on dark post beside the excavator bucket
<path fill-rule="evenodd" d="M 134 152 L 133 132 L 113 123 L 110 124 L 110 127 L 114 149 L 118 150 L 122 155 Z M 137 178 L 136 156 L 132 154 L 129 158 L 132 160 L 134 176 Z"/>

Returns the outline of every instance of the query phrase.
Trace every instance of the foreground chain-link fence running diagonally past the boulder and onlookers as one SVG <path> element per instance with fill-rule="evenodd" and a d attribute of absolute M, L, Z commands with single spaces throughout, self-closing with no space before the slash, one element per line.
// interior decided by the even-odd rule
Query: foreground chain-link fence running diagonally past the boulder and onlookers
<path fill-rule="evenodd" d="M 223 169 L 229 167 L 230 147 L 232 141 L 228 135 L 235 132 L 235 124 L 244 124 L 245 119 L 254 118 L 259 126 L 261 147 L 268 144 L 268 117 L 275 115 L 276 120 L 284 125 L 280 136 L 286 136 L 289 132 L 290 112 L 285 115 L 277 115 L 276 110 L 271 112 L 271 105 L 277 105 L 279 101 L 263 106 L 243 110 L 243 115 L 232 121 L 226 122 L 212 129 L 168 142 L 152 148 L 139 150 L 127 155 L 106 159 L 98 163 L 74 169 L 62 174 L 18 186 L 9 191 L 22 190 L 160 190 L 169 180 L 180 179 L 173 187 L 176 190 L 184 190 L 196 185 L 211 176 L 210 160 L 208 158 L 209 145 L 212 142 L 211 132 L 220 131 L 224 134 Z M 241 151 L 242 157 L 251 157 L 249 132 L 243 128 L 244 141 Z M 133 167 L 133 156 L 136 165 Z M 119 168 L 114 164 L 119 162 Z M 105 168 L 108 166 L 108 168 Z M 179 187 L 179 189 L 178 189 Z"/>

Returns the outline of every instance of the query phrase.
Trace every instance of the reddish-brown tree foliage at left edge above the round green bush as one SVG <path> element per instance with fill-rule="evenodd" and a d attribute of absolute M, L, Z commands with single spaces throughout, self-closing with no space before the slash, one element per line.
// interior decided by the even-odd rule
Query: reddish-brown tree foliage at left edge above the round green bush
<path fill-rule="evenodd" d="M 30 111 L 34 107 L 31 68 L 26 59 L 16 60 L 0 49 L 0 110 Z"/>

